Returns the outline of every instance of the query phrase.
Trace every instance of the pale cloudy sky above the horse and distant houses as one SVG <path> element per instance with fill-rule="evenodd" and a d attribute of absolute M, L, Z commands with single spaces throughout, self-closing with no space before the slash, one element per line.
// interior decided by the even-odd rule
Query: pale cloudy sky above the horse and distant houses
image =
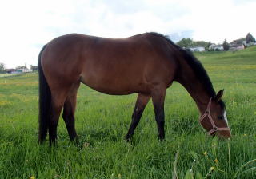
<path fill-rule="evenodd" d="M 126 38 L 155 31 L 222 43 L 256 36 L 256 0 L 0 0 L 0 62 L 36 65 L 42 46 L 63 34 Z"/>

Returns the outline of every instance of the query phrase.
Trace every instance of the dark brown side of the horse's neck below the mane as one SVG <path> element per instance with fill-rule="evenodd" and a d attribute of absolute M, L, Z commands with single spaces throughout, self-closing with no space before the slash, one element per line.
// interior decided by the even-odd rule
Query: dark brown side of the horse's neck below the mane
<path fill-rule="evenodd" d="M 178 75 L 178 82 L 182 84 L 190 93 L 190 96 L 196 102 L 198 109 L 201 113 L 207 108 L 207 104 L 210 101 L 210 95 L 207 93 L 204 84 L 198 80 L 194 74 L 194 70 L 187 64 L 182 67 L 182 72 Z"/>

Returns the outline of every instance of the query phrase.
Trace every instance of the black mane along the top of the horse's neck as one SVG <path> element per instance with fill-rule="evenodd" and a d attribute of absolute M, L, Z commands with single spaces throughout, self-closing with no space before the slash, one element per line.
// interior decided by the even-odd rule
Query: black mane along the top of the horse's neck
<path fill-rule="evenodd" d="M 150 34 L 165 38 L 167 42 L 169 42 L 172 46 L 175 46 L 182 53 L 184 60 L 186 60 L 187 64 L 191 67 L 191 69 L 194 70 L 194 74 L 200 80 L 200 82 L 202 82 L 210 97 L 214 97 L 216 95 L 205 68 L 202 66 L 202 63 L 199 62 L 198 59 L 194 57 L 194 55 L 190 51 L 184 50 L 182 49 L 182 47 L 176 45 L 174 42 L 170 40 L 168 36 L 158 34 L 155 32 L 151 32 Z"/>

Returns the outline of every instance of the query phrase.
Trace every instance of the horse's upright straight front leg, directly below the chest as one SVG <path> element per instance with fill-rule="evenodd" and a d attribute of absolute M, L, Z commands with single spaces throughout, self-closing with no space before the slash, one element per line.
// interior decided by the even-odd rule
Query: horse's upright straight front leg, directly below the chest
<path fill-rule="evenodd" d="M 165 86 L 155 86 L 154 90 L 151 92 L 152 101 L 154 105 L 155 120 L 158 125 L 158 138 L 163 140 L 165 138 L 165 112 L 164 103 L 166 97 L 166 87 Z"/>

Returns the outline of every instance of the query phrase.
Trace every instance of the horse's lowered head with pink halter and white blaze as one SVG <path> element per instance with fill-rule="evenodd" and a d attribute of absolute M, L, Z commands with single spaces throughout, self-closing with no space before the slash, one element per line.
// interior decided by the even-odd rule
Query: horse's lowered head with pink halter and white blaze
<path fill-rule="evenodd" d="M 202 113 L 199 121 L 210 135 L 229 138 L 231 133 L 226 118 L 225 104 L 222 101 L 223 91 L 220 90 L 216 96 L 210 97 L 207 109 Z"/>

